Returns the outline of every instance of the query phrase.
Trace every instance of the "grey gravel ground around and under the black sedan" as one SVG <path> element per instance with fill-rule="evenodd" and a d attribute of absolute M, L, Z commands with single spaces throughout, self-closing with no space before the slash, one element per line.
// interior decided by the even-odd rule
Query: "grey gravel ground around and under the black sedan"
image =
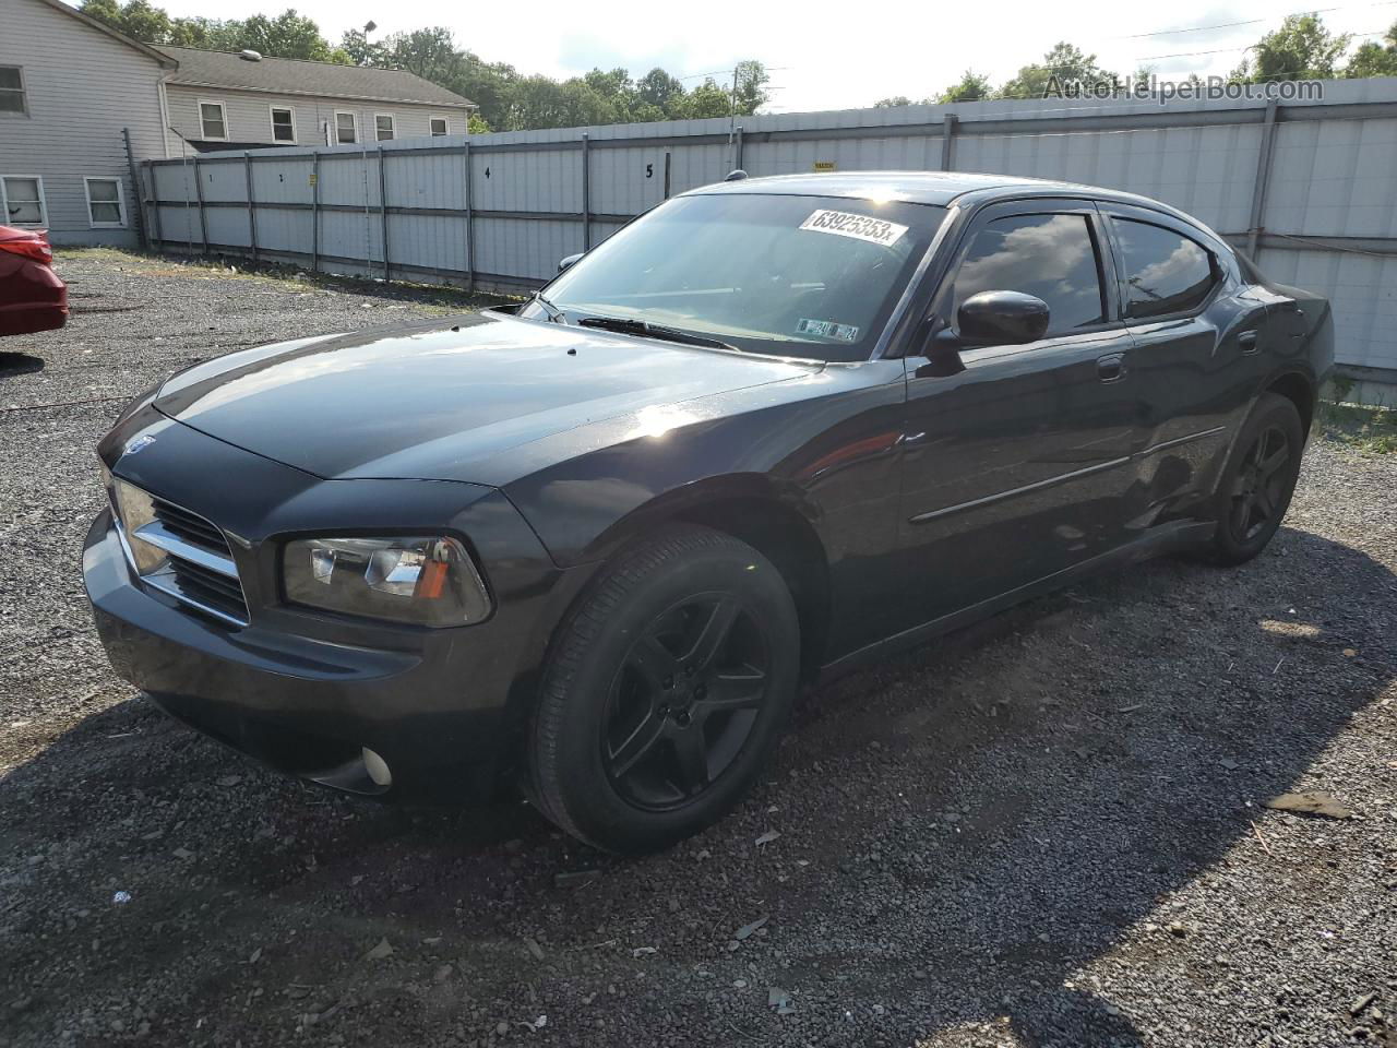
<path fill-rule="evenodd" d="M 1397 456 L 1316 440 L 1239 570 L 1141 565 L 823 689 L 735 815 L 617 861 L 264 773 L 89 626 L 122 398 L 443 306 L 60 270 L 70 326 L 4 345 L 47 366 L 0 377 L 0 1045 L 1397 1044 Z M 1347 817 L 1264 808 L 1316 789 Z"/>

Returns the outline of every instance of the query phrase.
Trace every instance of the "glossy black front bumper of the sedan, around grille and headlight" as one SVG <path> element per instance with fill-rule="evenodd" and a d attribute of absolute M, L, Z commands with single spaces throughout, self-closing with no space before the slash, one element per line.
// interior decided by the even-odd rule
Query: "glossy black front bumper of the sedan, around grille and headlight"
<path fill-rule="evenodd" d="M 159 444 L 141 454 L 140 470 L 123 465 L 120 456 L 109 465 L 117 475 L 140 474 L 127 479 L 149 488 L 177 475 L 162 468 L 161 458 L 189 451 L 203 454 L 205 465 L 222 458 L 218 475 L 225 481 L 237 460 L 239 483 L 218 492 L 208 485 L 198 492 L 156 486 L 163 497 L 179 497 L 219 523 L 232 511 L 219 506 L 229 486 L 244 496 L 261 490 L 282 499 L 279 509 L 261 507 L 267 520 L 285 520 L 286 506 L 295 503 L 305 528 L 324 527 L 312 504 L 326 497 L 348 513 L 355 496 L 365 496 L 363 518 L 353 520 L 360 527 L 379 524 L 376 516 L 415 496 L 427 497 L 420 489 L 454 500 L 455 516 L 440 520 L 472 527 L 476 548 L 500 558 L 481 558 L 496 609 L 475 626 L 427 630 L 335 622 L 286 608 L 267 584 L 279 541 L 256 527 L 257 510 L 240 504 L 237 534 L 247 546 L 236 556 L 250 625 L 229 626 L 147 588 L 129 566 L 110 511 L 103 511 L 87 537 L 82 574 L 116 671 L 177 720 L 282 771 L 394 801 L 454 803 L 492 792 L 518 753 L 552 616 L 559 613 L 555 601 L 566 599 L 566 576 L 573 574 L 552 565 L 509 502 L 490 489 L 467 492 L 471 485 L 291 476 L 288 467 L 179 423 L 156 421 L 156 432 Z M 278 481 L 296 489 L 289 502 Z M 324 488 L 332 490 L 313 490 Z M 465 509 L 462 500 L 469 500 Z M 407 511 L 419 514 L 420 527 L 423 510 Z M 370 777 L 365 748 L 387 763 L 390 787 Z"/>

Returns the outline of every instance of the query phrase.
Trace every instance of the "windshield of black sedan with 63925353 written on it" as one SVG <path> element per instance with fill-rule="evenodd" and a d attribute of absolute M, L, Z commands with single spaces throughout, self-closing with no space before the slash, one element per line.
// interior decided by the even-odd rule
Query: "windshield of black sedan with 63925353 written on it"
<path fill-rule="evenodd" d="M 623 317 L 738 349 L 865 361 L 946 208 L 721 193 L 678 197 L 545 291 L 564 320 Z M 538 302 L 520 313 L 548 320 Z"/>

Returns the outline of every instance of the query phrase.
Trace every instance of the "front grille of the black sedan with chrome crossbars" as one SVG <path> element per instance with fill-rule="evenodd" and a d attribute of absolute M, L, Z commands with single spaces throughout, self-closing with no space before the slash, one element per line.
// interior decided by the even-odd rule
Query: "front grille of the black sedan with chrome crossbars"
<path fill-rule="evenodd" d="M 217 524 L 120 478 L 112 479 L 112 506 L 142 583 L 221 622 L 247 625 L 237 563 Z"/>

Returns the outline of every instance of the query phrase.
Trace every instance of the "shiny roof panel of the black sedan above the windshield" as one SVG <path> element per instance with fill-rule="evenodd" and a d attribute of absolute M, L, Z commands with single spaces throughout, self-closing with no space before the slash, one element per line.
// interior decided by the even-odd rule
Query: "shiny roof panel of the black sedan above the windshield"
<path fill-rule="evenodd" d="M 848 197 L 851 200 L 895 198 L 914 204 L 950 204 L 974 193 L 978 203 L 1000 197 L 1090 197 L 1122 204 L 1150 207 L 1179 218 L 1182 212 L 1148 197 L 1099 186 L 1053 179 L 1025 179 L 1016 175 L 979 175 L 961 170 L 851 170 L 833 175 L 773 175 L 760 179 L 736 179 L 690 190 L 685 196 L 715 193 L 763 193 L 793 197 Z M 1189 219 L 1194 222 L 1194 219 Z M 1194 222 L 1196 224 L 1196 222 Z"/>

